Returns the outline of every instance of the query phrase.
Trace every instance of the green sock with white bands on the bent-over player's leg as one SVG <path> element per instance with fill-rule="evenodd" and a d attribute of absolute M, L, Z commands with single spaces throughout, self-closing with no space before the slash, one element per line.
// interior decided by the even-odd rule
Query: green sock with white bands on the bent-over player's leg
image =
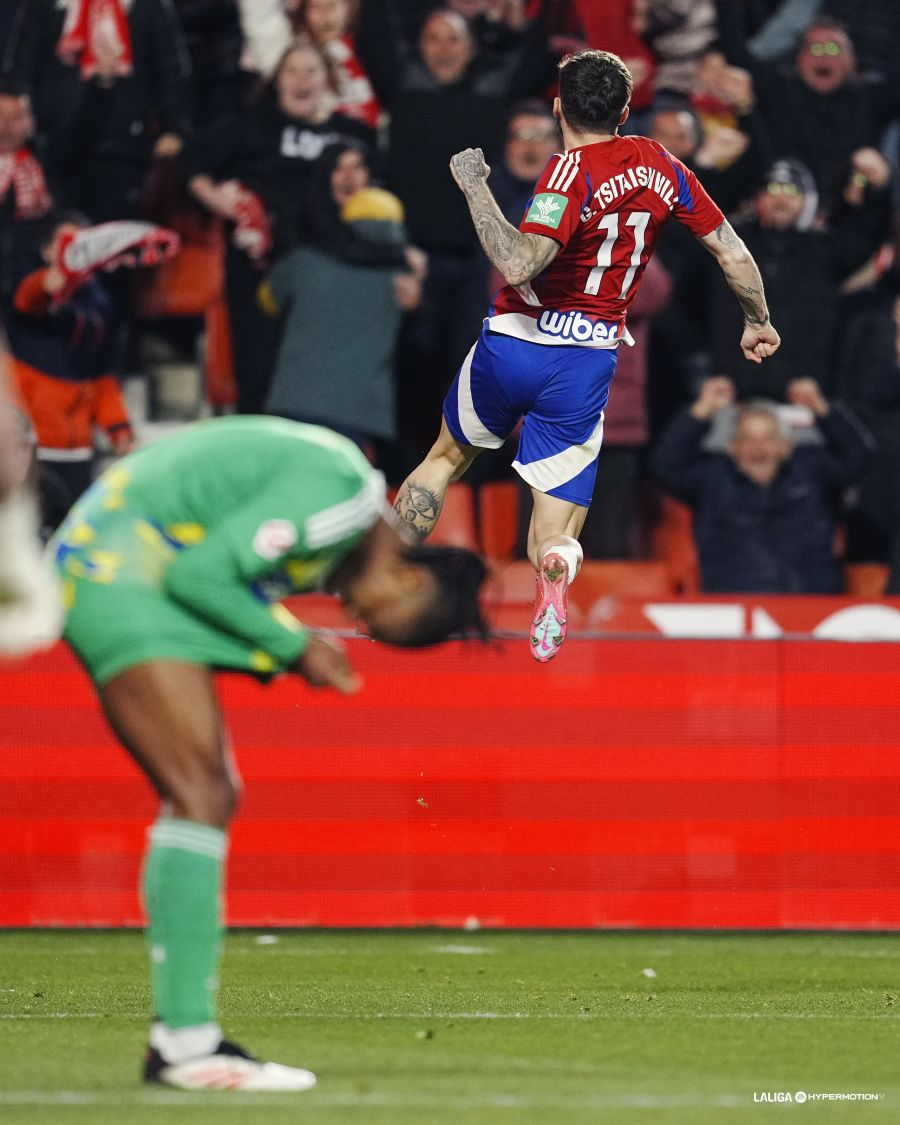
<path fill-rule="evenodd" d="M 192 820 L 162 817 L 150 830 L 144 903 L 153 1010 L 172 1028 L 216 1018 L 226 843 L 220 829 Z"/>

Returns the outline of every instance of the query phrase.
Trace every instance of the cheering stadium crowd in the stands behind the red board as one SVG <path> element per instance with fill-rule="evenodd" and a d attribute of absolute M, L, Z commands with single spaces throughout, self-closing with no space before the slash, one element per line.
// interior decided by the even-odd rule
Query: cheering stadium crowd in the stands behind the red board
<path fill-rule="evenodd" d="M 900 591 L 896 0 L 6 0 L 0 321 L 48 528 L 98 436 L 140 440 L 120 384 L 148 340 L 199 357 L 208 411 L 328 425 L 402 482 L 498 285 L 450 156 L 483 148 L 518 224 L 559 151 L 556 64 L 583 47 L 626 60 L 624 130 L 722 207 L 783 341 L 741 359 L 720 271 L 668 223 L 587 557 L 648 557 L 670 489 L 701 588 L 836 592 L 840 564 L 893 560 Z M 181 250 L 64 284 L 66 232 L 111 220 Z M 510 460 L 467 479 L 513 480 Z"/>

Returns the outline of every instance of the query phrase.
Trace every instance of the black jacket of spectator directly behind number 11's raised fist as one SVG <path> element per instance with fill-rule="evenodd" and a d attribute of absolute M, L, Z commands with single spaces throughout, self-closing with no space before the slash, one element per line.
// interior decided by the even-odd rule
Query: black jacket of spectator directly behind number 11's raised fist
<path fill-rule="evenodd" d="M 411 240 L 425 250 L 471 253 L 478 238 L 450 158 L 479 147 L 488 163 L 500 162 L 511 102 L 538 93 L 552 75 L 542 21 L 534 20 L 514 50 L 476 55 L 451 86 L 425 69 L 392 0 L 361 6 L 357 45 L 390 112 L 386 186 L 403 200 Z"/>

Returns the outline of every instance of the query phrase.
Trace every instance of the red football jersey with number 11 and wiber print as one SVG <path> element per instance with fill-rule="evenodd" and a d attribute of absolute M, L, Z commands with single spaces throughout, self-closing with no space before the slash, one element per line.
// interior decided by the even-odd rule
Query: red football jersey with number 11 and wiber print
<path fill-rule="evenodd" d="M 538 343 L 630 342 L 626 312 L 669 215 L 699 237 L 724 218 L 656 141 L 616 136 L 551 156 L 519 230 L 562 249 L 530 284 L 501 289 L 489 327 Z"/>

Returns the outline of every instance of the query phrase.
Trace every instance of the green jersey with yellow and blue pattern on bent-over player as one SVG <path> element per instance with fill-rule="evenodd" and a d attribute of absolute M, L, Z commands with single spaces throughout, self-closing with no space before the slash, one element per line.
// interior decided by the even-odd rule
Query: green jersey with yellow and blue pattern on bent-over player
<path fill-rule="evenodd" d="M 381 474 L 346 439 L 280 418 L 216 418 L 117 462 L 72 508 L 53 547 L 70 601 L 112 609 L 112 620 L 82 614 L 78 632 L 126 629 L 116 616 L 129 592 L 146 606 L 143 638 L 164 598 L 245 644 L 249 667 L 271 672 L 306 645 L 278 600 L 322 587 L 384 506 Z M 234 665 L 215 651 L 208 659 Z"/>

